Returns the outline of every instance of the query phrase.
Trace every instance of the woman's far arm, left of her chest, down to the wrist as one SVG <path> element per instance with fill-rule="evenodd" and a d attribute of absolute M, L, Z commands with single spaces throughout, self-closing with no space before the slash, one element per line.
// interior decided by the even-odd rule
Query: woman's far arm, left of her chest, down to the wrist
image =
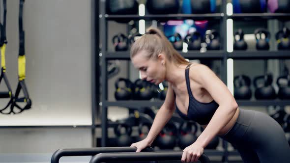
<path fill-rule="evenodd" d="M 170 120 L 172 117 L 175 107 L 175 97 L 174 97 L 174 92 L 171 83 L 168 85 L 168 90 L 166 94 L 166 99 L 164 101 L 164 104 L 162 107 L 158 110 L 153 124 L 150 128 L 150 131 L 145 138 L 145 140 L 148 142 L 149 145 L 152 144 L 156 136 L 160 133 L 162 128 L 166 125 L 166 123 Z"/>

